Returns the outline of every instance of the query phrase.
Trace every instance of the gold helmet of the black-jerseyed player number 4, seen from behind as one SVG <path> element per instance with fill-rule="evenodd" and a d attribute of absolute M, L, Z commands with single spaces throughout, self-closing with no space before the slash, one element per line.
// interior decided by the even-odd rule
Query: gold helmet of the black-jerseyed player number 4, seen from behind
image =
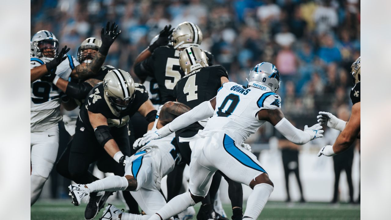
<path fill-rule="evenodd" d="M 185 74 L 190 74 L 194 70 L 208 67 L 208 58 L 199 47 L 188 47 L 179 55 L 179 66 Z"/>

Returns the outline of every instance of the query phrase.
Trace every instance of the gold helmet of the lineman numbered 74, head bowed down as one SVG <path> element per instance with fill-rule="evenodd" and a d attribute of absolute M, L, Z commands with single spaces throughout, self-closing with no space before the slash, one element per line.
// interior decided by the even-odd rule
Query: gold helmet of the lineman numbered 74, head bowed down
<path fill-rule="evenodd" d="M 104 95 L 118 111 L 125 110 L 135 97 L 135 81 L 129 72 L 110 70 L 103 79 Z"/>

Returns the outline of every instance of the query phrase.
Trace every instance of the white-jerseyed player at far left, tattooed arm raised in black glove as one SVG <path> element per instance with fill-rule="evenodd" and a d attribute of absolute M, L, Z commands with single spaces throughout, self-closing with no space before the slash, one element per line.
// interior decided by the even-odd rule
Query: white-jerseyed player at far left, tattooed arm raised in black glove
<path fill-rule="evenodd" d="M 31 39 L 30 58 L 30 150 L 31 150 L 31 202 L 32 206 L 38 200 L 43 185 L 49 177 L 53 164 L 56 161 L 59 141 L 58 123 L 60 115 L 60 90 L 55 86 L 59 78 L 68 80 L 74 78 L 86 78 L 98 72 L 103 64 L 108 49 L 118 36 L 115 23 L 109 29 L 109 22 L 106 26 L 106 34 L 102 29 L 102 36 L 105 36 L 106 44 L 102 44 L 99 52 L 91 63 L 80 63 L 71 55 L 65 54 L 66 47 L 58 53 L 58 40 L 50 31 L 38 31 Z M 103 41 L 103 39 L 102 39 Z M 58 57 L 60 55 L 60 57 Z M 53 60 L 61 63 L 56 67 Z M 58 62 L 56 62 L 57 64 Z M 45 66 L 41 67 L 41 66 Z M 50 74 L 50 73 L 55 74 Z M 43 76 L 47 74 L 47 76 Z"/>

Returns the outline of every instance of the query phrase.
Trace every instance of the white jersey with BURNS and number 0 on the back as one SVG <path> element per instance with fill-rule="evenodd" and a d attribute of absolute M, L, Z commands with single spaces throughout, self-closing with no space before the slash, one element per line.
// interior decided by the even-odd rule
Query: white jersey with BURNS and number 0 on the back
<path fill-rule="evenodd" d="M 242 144 L 265 123 L 258 119 L 259 110 L 281 108 L 280 103 L 281 97 L 270 90 L 224 83 L 217 92 L 215 112 L 204 131 L 223 131 L 237 144 Z"/>

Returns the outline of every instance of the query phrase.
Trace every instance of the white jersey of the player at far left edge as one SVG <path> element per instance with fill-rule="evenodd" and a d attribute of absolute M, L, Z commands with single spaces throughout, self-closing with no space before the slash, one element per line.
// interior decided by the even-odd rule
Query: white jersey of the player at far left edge
<path fill-rule="evenodd" d="M 79 65 L 73 56 L 67 55 L 67 59 L 57 66 L 56 74 L 61 78 L 68 80 L 72 70 Z M 30 67 L 38 67 L 53 58 L 30 58 Z M 54 126 L 61 120 L 59 108 L 61 104 L 59 88 L 51 82 L 41 81 L 40 79 L 30 84 L 30 116 L 31 131 L 42 131 Z"/>

